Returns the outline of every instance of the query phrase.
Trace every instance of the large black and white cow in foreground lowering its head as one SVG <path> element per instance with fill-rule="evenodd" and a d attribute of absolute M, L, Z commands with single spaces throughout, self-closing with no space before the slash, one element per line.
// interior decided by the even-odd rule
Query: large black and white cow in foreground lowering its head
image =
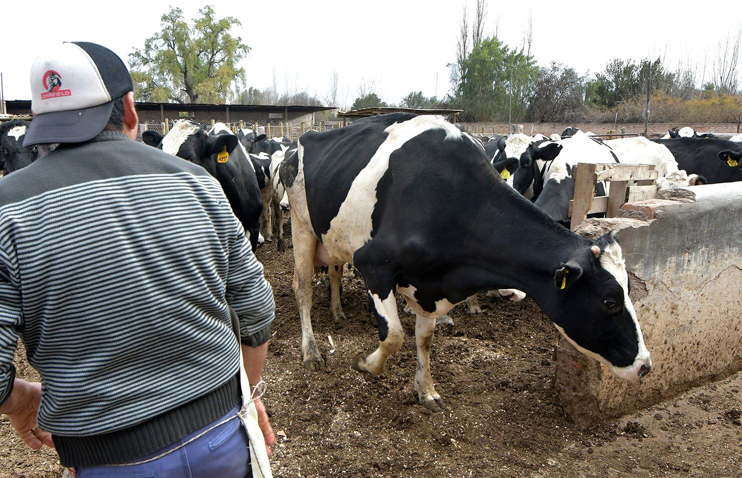
<path fill-rule="evenodd" d="M 440 119 L 385 114 L 309 131 L 280 164 L 289 194 L 303 364 L 324 367 L 312 272 L 353 263 L 375 306 L 379 344 L 353 367 L 381 373 L 404 339 L 395 292 L 417 314 L 415 390 L 443 406 L 430 376 L 436 318 L 476 292 L 518 287 L 583 353 L 638 381 L 651 361 L 621 248 L 559 226 L 505 184 L 479 143 Z M 511 218 L 516 218 L 513 226 Z M 523 240 L 528 238 L 528 240 Z"/>

